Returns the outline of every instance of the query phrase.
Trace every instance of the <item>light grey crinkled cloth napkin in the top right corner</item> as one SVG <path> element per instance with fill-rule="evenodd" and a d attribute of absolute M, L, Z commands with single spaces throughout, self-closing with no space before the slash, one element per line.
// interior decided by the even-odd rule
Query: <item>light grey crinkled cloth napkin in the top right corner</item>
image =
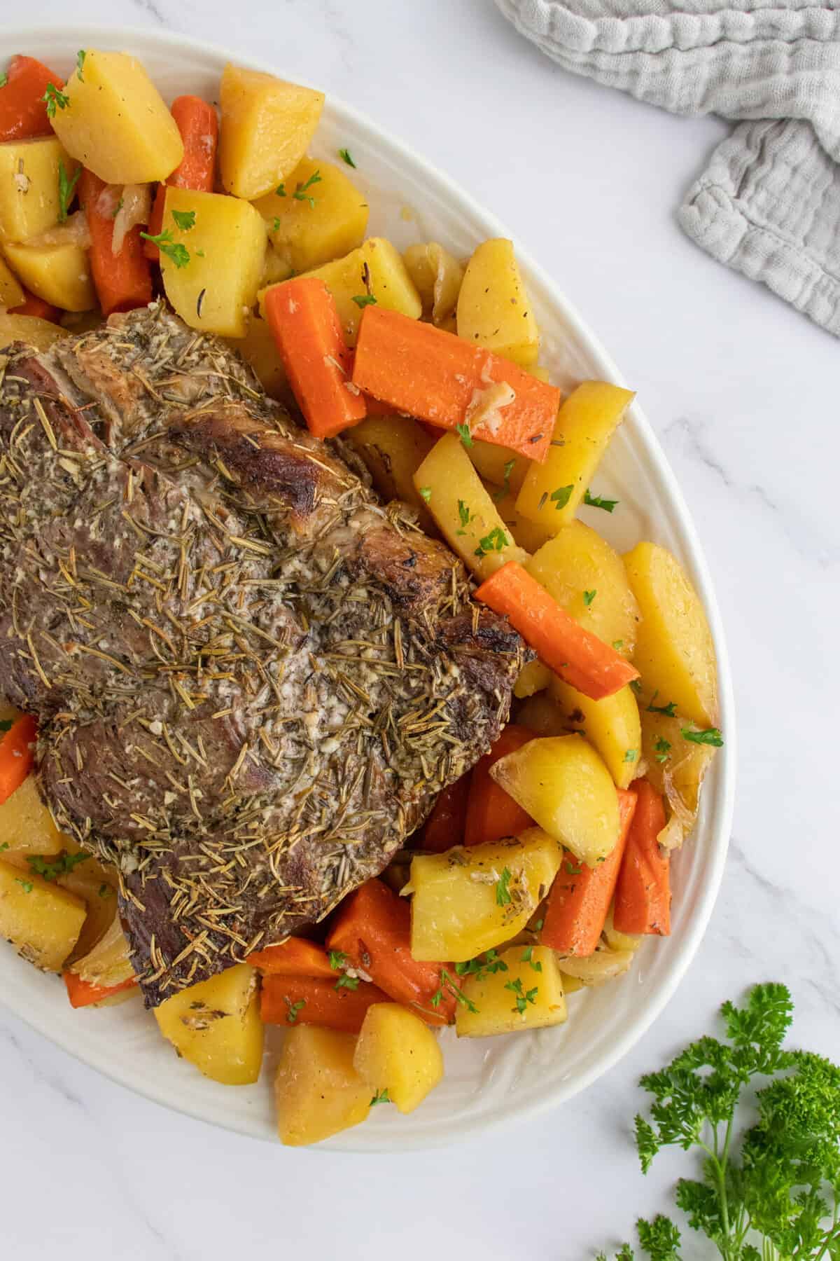
<path fill-rule="evenodd" d="M 840 337 L 840 8 L 496 0 L 565 69 L 739 122 L 679 211 L 715 259 Z"/>

